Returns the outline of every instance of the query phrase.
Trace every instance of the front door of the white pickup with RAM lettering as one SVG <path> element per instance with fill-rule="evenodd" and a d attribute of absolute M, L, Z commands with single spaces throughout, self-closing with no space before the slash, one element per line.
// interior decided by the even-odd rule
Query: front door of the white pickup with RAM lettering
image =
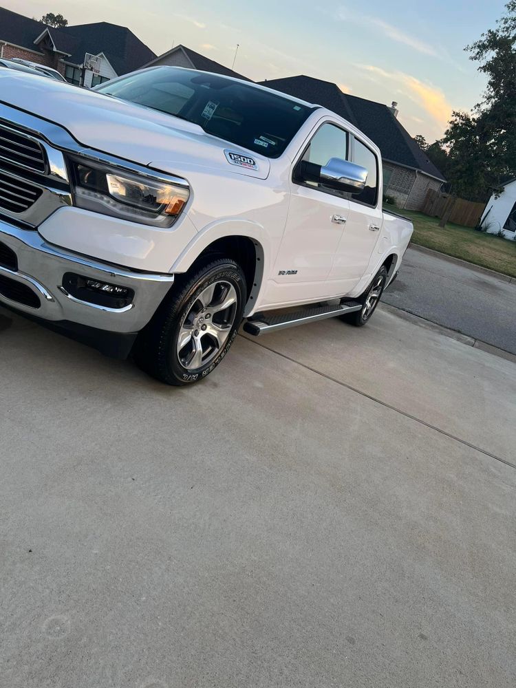
<path fill-rule="evenodd" d="M 345 129 L 324 122 L 294 160 L 292 171 L 300 160 L 325 165 L 330 158 L 349 159 L 349 138 Z M 288 218 L 268 283 L 268 305 L 332 296 L 328 277 L 350 213 L 350 202 L 341 191 L 296 182 L 294 176 L 290 185 Z"/>

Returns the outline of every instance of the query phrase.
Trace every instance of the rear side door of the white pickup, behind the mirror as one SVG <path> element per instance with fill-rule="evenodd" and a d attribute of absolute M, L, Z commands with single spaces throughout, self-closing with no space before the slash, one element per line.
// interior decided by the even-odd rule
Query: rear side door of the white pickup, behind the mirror
<path fill-rule="evenodd" d="M 344 292 L 351 291 L 367 270 L 383 223 L 376 154 L 354 138 L 351 157 L 367 169 L 367 182 L 363 191 L 350 195 L 350 213 L 330 271 L 330 281 L 341 283 Z"/>

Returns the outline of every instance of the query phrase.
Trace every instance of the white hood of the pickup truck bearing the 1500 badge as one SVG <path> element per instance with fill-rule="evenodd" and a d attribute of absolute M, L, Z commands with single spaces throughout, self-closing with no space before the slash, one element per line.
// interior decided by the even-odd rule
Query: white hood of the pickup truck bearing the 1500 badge
<path fill-rule="evenodd" d="M 0 68 L 0 102 L 61 125 L 85 148 L 161 171 L 184 175 L 202 167 L 266 179 L 270 170 L 264 155 L 191 122 L 53 79 Z M 255 165 L 241 164 L 239 155 Z"/>

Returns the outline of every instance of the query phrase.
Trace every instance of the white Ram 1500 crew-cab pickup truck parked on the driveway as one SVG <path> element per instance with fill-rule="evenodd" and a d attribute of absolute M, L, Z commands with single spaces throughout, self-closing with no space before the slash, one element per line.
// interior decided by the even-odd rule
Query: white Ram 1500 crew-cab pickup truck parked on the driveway
<path fill-rule="evenodd" d="M 244 320 L 364 325 L 411 223 L 333 112 L 176 67 L 95 91 L 0 72 L 0 304 L 171 385 Z"/>

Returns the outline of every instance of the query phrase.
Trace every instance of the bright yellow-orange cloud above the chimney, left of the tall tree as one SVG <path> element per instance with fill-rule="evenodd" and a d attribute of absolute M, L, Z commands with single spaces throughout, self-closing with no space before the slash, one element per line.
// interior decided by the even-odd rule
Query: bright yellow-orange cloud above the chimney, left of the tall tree
<path fill-rule="evenodd" d="M 387 72 L 385 69 L 374 65 L 355 66 L 372 75 L 372 80 L 376 80 L 375 76 L 380 76 L 384 81 L 389 80 L 397 85 L 400 94 L 419 105 L 440 127 L 446 127 L 453 108 L 441 89 L 424 83 L 411 74 L 405 74 L 405 72 Z"/>

